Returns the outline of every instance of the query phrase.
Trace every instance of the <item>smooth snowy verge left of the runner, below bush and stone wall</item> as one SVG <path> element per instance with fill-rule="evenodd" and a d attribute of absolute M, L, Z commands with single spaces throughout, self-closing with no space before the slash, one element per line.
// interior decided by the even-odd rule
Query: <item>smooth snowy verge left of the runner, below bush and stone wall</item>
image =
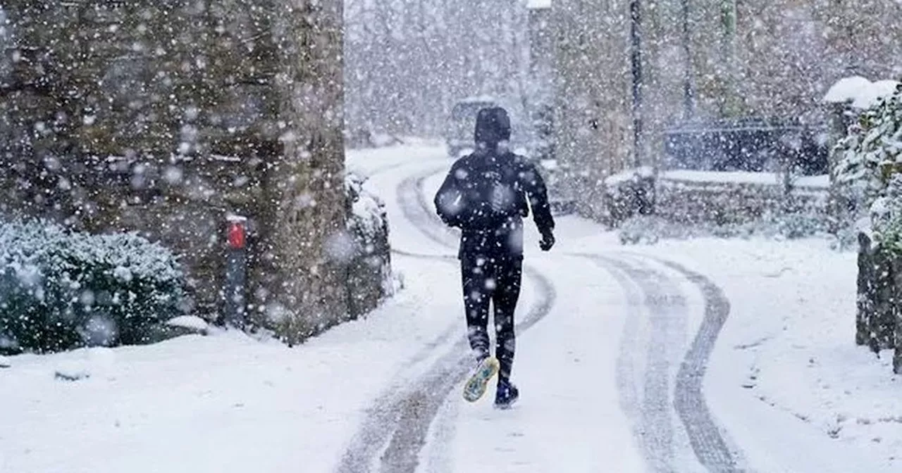
<path fill-rule="evenodd" d="M 393 266 L 396 296 L 295 348 L 210 329 L 0 359 L 0 471 L 332 471 L 373 399 L 463 331 L 457 291 L 435 290 L 457 284 L 452 265 Z"/>

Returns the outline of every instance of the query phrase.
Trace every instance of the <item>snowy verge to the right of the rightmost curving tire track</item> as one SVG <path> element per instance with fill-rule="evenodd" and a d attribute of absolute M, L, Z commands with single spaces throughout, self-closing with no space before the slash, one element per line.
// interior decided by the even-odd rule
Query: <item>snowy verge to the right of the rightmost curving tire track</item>
<path fill-rule="evenodd" d="M 854 343 L 855 255 L 821 239 L 638 249 L 712 277 L 730 300 L 708 370 L 713 414 L 758 471 L 898 471 L 902 377 Z"/>

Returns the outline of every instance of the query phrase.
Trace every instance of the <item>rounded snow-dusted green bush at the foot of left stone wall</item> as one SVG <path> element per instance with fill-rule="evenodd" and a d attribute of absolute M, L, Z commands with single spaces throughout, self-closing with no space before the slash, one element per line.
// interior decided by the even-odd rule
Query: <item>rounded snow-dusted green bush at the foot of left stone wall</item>
<path fill-rule="evenodd" d="M 0 352 L 159 341 L 183 295 L 177 259 L 136 234 L 0 221 Z"/>

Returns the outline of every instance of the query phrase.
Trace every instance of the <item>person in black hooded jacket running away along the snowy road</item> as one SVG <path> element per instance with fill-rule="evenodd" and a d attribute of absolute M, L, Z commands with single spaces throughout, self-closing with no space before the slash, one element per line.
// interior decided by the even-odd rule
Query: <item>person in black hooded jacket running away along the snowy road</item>
<path fill-rule="evenodd" d="M 438 216 L 461 229 L 461 279 L 467 338 L 476 369 L 465 385 L 464 396 L 474 402 L 483 396 L 489 380 L 498 374 L 497 407 L 508 407 L 519 397 L 511 383 L 515 348 L 514 311 L 520 298 L 523 265 L 523 217 L 529 216 L 542 235 L 541 250 L 554 246 L 554 218 L 548 191 L 538 169 L 508 150 L 511 122 L 500 107 L 483 108 L 476 115 L 476 150 L 458 159 L 438 189 Z M 495 357 L 489 350 L 489 305 L 493 303 Z"/>

